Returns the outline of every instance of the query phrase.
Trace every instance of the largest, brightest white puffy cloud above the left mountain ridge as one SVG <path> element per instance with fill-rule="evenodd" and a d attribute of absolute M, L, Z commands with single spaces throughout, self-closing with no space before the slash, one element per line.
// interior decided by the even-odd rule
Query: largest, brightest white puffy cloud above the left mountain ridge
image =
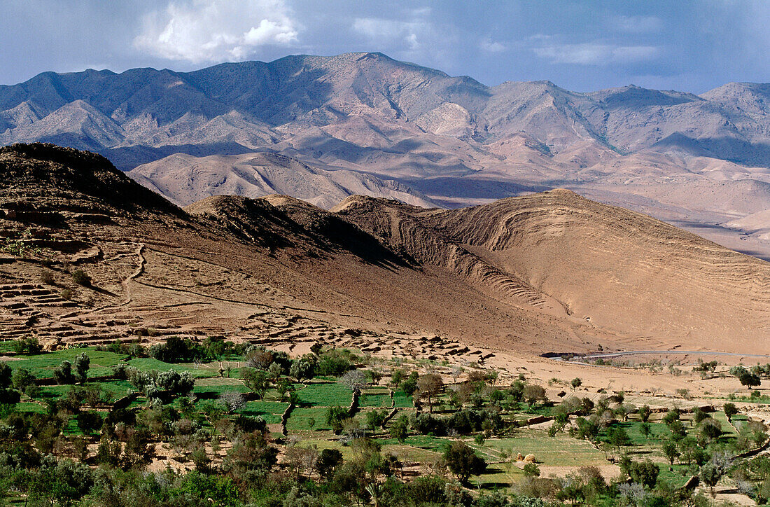
<path fill-rule="evenodd" d="M 134 45 L 193 63 L 243 60 L 260 46 L 297 42 L 298 30 L 283 0 L 188 0 L 146 15 Z"/>

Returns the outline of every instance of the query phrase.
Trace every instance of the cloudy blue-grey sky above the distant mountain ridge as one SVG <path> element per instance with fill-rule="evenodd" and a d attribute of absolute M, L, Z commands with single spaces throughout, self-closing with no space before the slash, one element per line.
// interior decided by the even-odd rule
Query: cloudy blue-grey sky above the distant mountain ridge
<path fill-rule="evenodd" d="M 379 51 L 487 85 L 770 82 L 770 2 L 0 0 L 0 83 Z"/>

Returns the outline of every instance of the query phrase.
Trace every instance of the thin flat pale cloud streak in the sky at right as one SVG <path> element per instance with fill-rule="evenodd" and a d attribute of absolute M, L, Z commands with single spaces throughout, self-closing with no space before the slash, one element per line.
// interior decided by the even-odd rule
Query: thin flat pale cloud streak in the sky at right
<path fill-rule="evenodd" d="M 650 45 L 612 45 L 599 42 L 582 44 L 545 45 L 532 49 L 536 55 L 551 63 L 577 65 L 609 65 L 613 63 L 635 63 L 654 59 L 659 49 Z"/>

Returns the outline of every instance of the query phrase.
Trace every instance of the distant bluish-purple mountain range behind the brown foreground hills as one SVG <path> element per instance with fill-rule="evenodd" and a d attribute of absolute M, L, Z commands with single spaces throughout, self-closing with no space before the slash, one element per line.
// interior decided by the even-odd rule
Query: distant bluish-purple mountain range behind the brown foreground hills
<path fill-rule="evenodd" d="M 0 86 L 0 143 L 29 141 L 102 153 L 185 204 L 367 193 L 457 207 L 567 187 L 770 258 L 768 84 L 488 87 L 380 53 L 46 72 Z"/>

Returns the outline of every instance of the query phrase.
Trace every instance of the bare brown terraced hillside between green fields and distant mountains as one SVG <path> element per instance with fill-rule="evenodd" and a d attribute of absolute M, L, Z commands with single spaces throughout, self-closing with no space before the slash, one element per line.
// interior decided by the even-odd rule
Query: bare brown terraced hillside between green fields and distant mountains
<path fill-rule="evenodd" d="M 0 149 L 0 211 L 4 336 L 768 352 L 770 264 L 568 190 L 458 210 L 279 195 L 182 209 L 101 156 L 36 144 Z"/>

